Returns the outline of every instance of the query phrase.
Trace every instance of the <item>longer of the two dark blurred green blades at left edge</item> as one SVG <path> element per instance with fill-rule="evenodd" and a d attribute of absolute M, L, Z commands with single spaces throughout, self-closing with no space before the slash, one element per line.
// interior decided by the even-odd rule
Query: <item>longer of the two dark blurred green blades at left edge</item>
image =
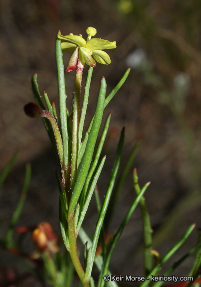
<path fill-rule="evenodd" d="M 17 207 L 15 209 L 15 211 L 12 214 L 12 218 L 10 220 L 10 224 L 9 224 L 9 228 L 8 231 L 5 235 L 5 243 L 6 243 L 6 247 L 7 248 L 11 248 L 13 247 L 13 240 L 12 240 L 12 236 L 14 233 L 14 228 L 15 225 L 17 224 L 17 221 L 19 219 L 19 216 L 21 214 L 25 199 L 26 199 L 26 194 L 27 194 L 27 190 L 28 190 L 28 185 L 31 179 L 31 166 L 29 163 L 26 164 L 26 168 L 25 168 L 25 177 L 24 177 L 24 184 L 22 187 L 22 191 L 21 191 L 21 195 L 20 195 L 20 199 L 18 201 Z"/>

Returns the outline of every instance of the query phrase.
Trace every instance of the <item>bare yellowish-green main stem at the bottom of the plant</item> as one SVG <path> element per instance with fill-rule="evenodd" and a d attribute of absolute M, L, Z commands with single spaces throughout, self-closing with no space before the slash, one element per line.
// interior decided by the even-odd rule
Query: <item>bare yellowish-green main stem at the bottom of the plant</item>
<path fill-rule="evenodd" d="M 76 242 L 76 236 L 75 236 L 75 226 L 74 226 L 74 213 L 72 216 L 69 216 L 68 214 L 68 238 L 69 238 L 69 253 L 72 260 L 72 263 L 74 265 L 74 268 L 77 272 L 77 275 L 79 276 L 79 279 L 83 285 L 83 287 L 90 287 L 89 283 L 84 282 L 84 270 L 82 268 L 82 265 L 79 260 L 79 256 L 77 253 L 77 242 Z"/>

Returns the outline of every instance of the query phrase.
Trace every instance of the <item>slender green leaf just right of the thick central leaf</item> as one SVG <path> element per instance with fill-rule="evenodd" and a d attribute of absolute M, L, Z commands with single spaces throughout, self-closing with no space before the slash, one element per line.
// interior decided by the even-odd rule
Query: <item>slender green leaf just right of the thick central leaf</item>
<path fill-rule="evenodd" d="M 96 169 L 96 166 L 98 164 L 98 161 L 99 161 L 99 158 L 100 158 L 100 155 L 101 155 L 101 151 L 102 151 L 102 148 L 103 148 L 103 144 L 104 144 L 105 138 L 107 136 L 107 132 L 108 132 L 108 129 L 109 129 L 109 124 L 110 124 L 110 119 L 111 119 L 111 113 L 108 115 L 108 117 L 106 119 L 105 126 L 103 128 L 103 132 L 102 132 L 102 135 L 101 135 L 101 138 L 100 138 L 100 142 L 98 144 L 98 148 L 97 148 L 95 156 L 94 156 L 94 160 L 93 160 L 92 166 L 89 169 L 89 172 L 87 174 L 87 178 L 86 178 L 86 181 L 85 181 L 82 193 L 81 193 L 81 199 L 80 199 L 80 210 L 81 211 L 82 211 L 82 208 L 83 208 L 83 205 L 84 205 L 85 196 L 87 194 L 89 183 L 91 181 L 91 178 L 92 178 L 92 176 L 94 174 L 94 171 Z"/>

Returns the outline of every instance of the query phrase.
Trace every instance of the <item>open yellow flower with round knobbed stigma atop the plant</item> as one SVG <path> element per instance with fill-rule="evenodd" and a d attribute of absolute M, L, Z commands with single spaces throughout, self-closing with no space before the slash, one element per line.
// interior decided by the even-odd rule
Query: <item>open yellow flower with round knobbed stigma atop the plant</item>
<path fill-rule="evenodd" d="M 62 51 L 73 52 L 66 69 L 68 72 L 76 69 L 78 59 L 82 65 L 86 63 L 91 67 L 96 66 L 96 61 L 104 65 L 111 63 L 109 55 L 102 50 L 116 48 L 116 41 L 110 42 L 99 38 L 91 39 L 91 36 L 96 35 L 96 29 L 93 27 L 88 27 L 86 32 L 88 34 L 86 41 L 82 38 L 82 35 L 58 35 L 59 39 L 68 41 L 61 43 Z"/>

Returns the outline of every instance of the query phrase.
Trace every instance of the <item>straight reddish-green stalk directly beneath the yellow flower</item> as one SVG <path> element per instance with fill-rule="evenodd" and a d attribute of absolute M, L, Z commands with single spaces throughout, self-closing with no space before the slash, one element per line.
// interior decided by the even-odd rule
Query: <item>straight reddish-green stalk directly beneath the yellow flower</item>
<path fill-rule="evenodd" d="M 80 94 L 82 84 L 83 64 L 78 60 L 77 71 L 75 77 L 75 92 L 73 98 L 73 122 L 72 122 L 72 155 L 71 155 L 71 176 L 70 190 L 73 190 L 77 176 L 77 155 L 79 146 L 79 109 L 80 109 Z"/>

